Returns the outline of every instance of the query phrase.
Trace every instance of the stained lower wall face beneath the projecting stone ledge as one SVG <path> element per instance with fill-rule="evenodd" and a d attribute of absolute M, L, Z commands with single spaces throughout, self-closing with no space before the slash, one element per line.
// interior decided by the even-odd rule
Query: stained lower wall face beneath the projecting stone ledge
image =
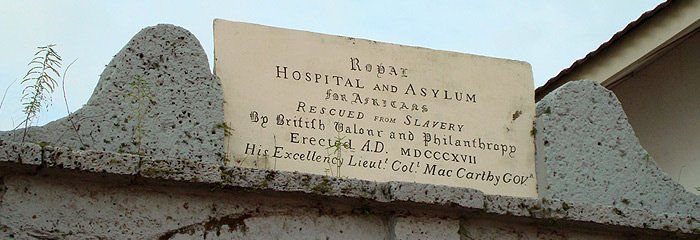
<path fill-rule="evenodd" d="M 13 173 L 9 173 L 13 172 Z M 17 239 L 662 239 L 668 233 L 449 206 L 3 166 L 0 237 Z M 590 226 L 586 226 L 590 225 Z"/>

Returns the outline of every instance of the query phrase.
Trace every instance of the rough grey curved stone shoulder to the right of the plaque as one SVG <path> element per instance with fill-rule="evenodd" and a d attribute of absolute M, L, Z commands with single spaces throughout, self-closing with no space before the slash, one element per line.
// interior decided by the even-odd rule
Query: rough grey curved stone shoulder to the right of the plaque
<path fill-rule="evenodd" d="M 656 166 L 611 91 L 569 82 L 537 104 L 537 116 L 541 197 L 700 216 L 700 197 Z"/>

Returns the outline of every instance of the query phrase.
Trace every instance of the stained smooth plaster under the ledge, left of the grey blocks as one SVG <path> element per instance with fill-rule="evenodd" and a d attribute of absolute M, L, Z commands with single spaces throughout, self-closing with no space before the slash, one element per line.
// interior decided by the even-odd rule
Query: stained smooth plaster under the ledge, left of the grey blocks
<path fill-rule="evenodd" d="M 388 234 L 384 218 L 342 208 L 326 213 L 301 201 L 89 179 L 4 176 L 0 237 L 386 239 Z"/>

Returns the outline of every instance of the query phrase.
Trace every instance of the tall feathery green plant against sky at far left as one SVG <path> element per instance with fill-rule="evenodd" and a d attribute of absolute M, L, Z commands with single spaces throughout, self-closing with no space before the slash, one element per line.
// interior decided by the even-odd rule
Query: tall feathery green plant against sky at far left
<path fill-rule="evenodd" d="M 50 94 L 58 84 L 55 77 L 60 77 L 61 56 L 53 49 L 55 44 L 38 47 L 34 58 L 29 62 L 29 71 L 20 82 L 25 85 L 22 90 L 22 105 L 25 118 L 17 127 L 24 125 L 22 141 L 27 137 L 27 128 L 36 120 L 42 107 L 50 102 Z"/>

